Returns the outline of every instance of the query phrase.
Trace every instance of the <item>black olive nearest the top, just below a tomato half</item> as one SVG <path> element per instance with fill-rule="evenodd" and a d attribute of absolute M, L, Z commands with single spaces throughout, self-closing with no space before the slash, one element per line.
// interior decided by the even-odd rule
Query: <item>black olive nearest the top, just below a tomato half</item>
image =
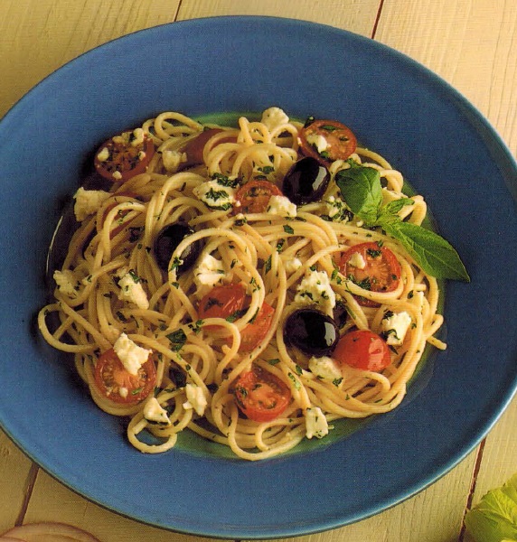
<path fill-rule="evenodd" d="M 282 192 L 296 205 L 321 200 L 330 181 L 330 173 L 312 156 L 298 160 L 286 173 Z"/>

